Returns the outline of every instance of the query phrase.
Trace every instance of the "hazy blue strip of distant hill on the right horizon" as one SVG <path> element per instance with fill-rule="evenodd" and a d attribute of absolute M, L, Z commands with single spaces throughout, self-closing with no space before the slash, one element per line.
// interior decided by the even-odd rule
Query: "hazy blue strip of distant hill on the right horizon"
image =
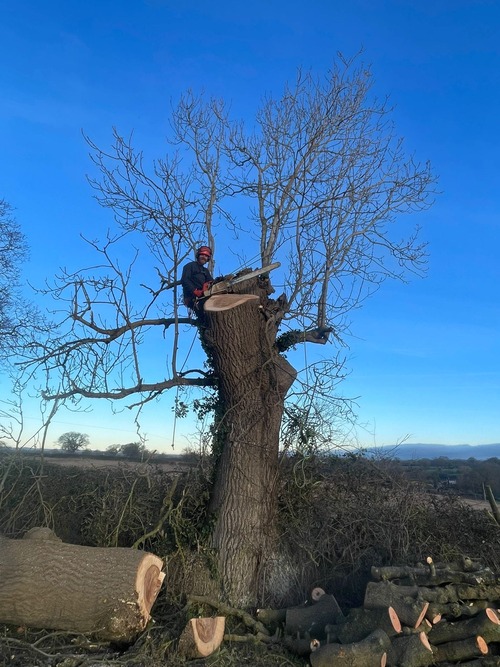
<path fill-rule="evenodd" d="M 404 444 L 386 447 L 372 447 L 367 452 L 374 456 L 391 456 L 402 461 L 412 459 L 437 459 L 445 456 L 449 459 L 470 459 L 485 461 L 486 459 L 500 459 L 500 443 L 492 445 L 432 445 L 432 444 Z"/>

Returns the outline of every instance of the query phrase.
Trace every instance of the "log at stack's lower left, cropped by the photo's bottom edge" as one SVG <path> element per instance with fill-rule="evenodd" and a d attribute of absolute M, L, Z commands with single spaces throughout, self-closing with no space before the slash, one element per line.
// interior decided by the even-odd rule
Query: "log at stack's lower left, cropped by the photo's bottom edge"
<path fill-rule="evenodd" d="M 324 644 L 313 650 L 312 667 L 384 667 L 391 640 L 383 630 L 355 644 Z"/>

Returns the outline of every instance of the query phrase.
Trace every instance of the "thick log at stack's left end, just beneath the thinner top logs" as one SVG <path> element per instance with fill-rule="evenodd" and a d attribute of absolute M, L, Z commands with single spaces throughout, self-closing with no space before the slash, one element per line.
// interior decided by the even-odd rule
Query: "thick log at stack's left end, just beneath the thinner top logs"
<path fill-rule="evenodd" d="M 410 593 L 410 594 L 408 594 Z M 370 581 L 365 590 L 365 609 L 392 607 L 403 625 L 416 628 L 422 623 L 429 603 L 417 598 L 418 586 L 396 586 L 390 582 Z"/>

